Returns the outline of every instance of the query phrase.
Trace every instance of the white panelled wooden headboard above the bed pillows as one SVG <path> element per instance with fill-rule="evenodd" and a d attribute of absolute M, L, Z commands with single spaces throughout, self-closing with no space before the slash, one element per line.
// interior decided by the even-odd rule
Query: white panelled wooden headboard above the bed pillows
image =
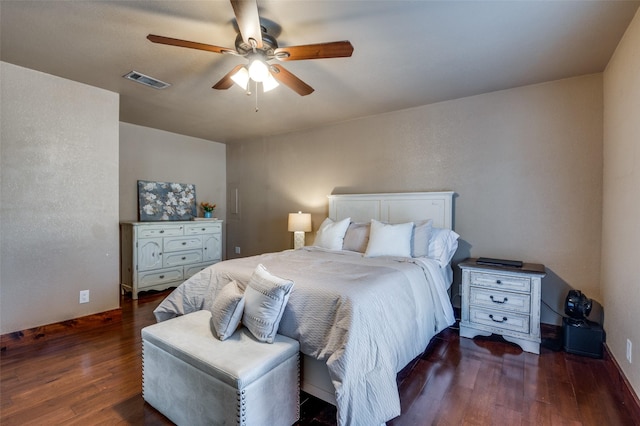
<path fill-rule="evenodd" d="M 387 223 L 433 219 L 433 226 L 452 229 L 453 191 L 392 194 L 329 195 L 329 217 L 353 222 L 376 219 Z"/>

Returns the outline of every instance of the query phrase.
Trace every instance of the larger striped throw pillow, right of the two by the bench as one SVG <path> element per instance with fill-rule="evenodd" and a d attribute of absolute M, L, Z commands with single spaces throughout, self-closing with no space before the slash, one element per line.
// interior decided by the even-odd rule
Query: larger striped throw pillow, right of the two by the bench
<path fill-rule="evenodd" d="M 293 281 L 276 277 L 258 265 L 244 291 L 242 323 L 256 339 L 273 343 L 287 306 Z"/>

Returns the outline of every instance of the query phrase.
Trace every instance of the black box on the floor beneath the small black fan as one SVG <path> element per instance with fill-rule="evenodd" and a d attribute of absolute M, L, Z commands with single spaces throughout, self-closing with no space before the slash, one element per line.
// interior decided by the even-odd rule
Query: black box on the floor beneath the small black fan
<path fill-rule="evenodd" d="M 570 354 L 602 358 L 605 333 L 602 326 L 593 321 L 562 320 L 564 350 Z"/>

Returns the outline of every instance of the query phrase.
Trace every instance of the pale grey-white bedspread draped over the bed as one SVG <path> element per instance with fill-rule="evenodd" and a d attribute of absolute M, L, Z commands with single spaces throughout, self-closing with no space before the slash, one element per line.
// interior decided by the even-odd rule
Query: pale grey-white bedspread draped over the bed
<path fill-rule="evenodd" d="M 156 318 L 210 309 L 225 284 L 246 285 L 259 263 L 295 282 L 278 332 L 326 362 L 338 424 L 379 425 L 398 416 L 397 372 L 454 323 L 446 271 L 429 259 L 305 247 L 217 263 L 171 293 Z"/>

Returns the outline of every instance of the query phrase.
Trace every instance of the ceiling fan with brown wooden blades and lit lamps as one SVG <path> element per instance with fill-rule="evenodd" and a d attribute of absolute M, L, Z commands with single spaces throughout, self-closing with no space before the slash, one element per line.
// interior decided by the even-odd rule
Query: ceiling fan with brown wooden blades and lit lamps
<path fill-rule="evenodd" d="M 257 0 L 231 0 L 240 34 L 236 37 L 235 50 L 211 44 L 198 43 L 176 38 L 149 34 L 147 38 L 160 44 L 206 50 L 208 52 L 243 56 L 249 65 L 237 65 L 218 81 L 213 88 L 226 90 L 235 82 L 249 93 L 249 83 L 262 83 L 263 91 L 268 91 L 282 83 L 301 96 L 313 92 L 313 88 L 287 71 L 277 61 L 299 61 L 304 59 L 326 59 L 350 57 L 353 46 L 349 41 L 307 44 L 301 46 L 278 47 L 275 37 L 267 34 L 260 25 Z"/>

